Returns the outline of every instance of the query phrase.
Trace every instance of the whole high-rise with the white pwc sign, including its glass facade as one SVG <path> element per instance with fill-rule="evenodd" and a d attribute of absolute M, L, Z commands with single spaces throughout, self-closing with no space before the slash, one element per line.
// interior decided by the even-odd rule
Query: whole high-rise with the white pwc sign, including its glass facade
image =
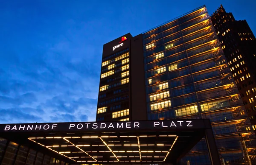
<path fill-rule="evenodd" d="M 221 47 L 205 6 L 108 42 L 96 120 L 209 118 L 221 162 L 250 165 L 255 134 Z M 180 164 L 209 164 L 206 148 L 202 140 Z"/>

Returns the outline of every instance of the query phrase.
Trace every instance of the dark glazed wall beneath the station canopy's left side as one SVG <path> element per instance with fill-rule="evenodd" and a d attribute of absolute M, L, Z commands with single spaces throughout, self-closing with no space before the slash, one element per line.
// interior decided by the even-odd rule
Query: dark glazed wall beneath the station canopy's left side
<path fill-rule="evenodd" d="M 0 137 L 0 165 L 69 165 Z"/>

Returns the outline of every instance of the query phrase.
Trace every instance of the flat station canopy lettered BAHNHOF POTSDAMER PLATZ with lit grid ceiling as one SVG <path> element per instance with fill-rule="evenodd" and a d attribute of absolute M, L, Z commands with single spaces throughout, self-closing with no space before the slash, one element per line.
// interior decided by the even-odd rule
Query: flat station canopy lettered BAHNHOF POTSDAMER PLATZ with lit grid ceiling
<path fill-rule="evenodd" d="M 70 164 L 176 164 L 206 137 L 219 160 L 209 119 L 0 124 L 0 137 Z"/>

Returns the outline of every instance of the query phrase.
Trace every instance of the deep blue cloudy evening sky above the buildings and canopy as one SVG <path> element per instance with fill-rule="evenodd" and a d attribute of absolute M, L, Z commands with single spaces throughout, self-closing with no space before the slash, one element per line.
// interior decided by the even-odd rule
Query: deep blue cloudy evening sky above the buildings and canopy
<path fill-rule="evenodd" d="M 0 123 L 95 121 L 103 44 L 220 4 L 256 33 L 256 0 L 0 0 Z"/>

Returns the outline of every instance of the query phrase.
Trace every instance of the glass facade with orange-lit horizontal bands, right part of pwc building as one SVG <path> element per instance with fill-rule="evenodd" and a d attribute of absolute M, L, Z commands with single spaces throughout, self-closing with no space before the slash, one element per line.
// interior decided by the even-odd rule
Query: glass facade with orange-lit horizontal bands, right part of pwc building
<path fill-rule="evenodd" d="M 143 34 L 148 120 L 209 118 L 222 164 L 250 164 L 255 134 L 205 6 Z M 180 164 L 208 165 L 204 140 Z"/>

